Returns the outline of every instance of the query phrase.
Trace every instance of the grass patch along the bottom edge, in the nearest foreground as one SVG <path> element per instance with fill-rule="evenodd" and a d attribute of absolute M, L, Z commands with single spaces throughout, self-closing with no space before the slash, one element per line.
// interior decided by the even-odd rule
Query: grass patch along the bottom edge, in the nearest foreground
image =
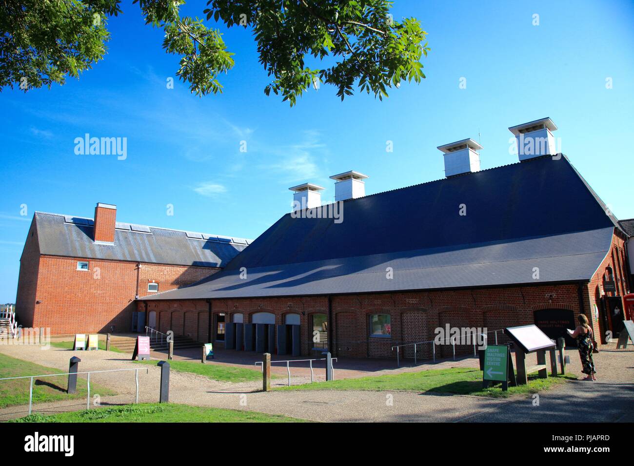
<path fill-rule="evenodd" d="M 95 408 L 52 415 L 32 414 L 11 422 L 308 422 L 255 411 L 200 408 L 174 403 Z"/>

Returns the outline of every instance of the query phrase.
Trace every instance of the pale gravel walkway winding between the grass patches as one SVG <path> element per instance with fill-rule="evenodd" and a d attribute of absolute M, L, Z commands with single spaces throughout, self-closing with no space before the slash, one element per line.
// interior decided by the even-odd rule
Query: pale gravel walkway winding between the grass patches
<path fill-rule="evenodd" d="M 612 346 L 614 348 L 614 345 Z M 71 351 L 51 348 L 41 351 L 36 346 L 3 346 L 0 352 L 20 359 L 27 359 L 45 366 L 60 368 L 65 372 Z M 103 370 L 112 368 L 139 367 L 120 353 L 94 351 L 81 353 L 81 370 Z M 568 352 L 572 364 L 569 373 L 578 375 L 581 367 L 579 358 L 573 351 Z M 634 413 L 634 351 L 610 349 L 595 355 L 598 382 L 573 381 L 540 393 L 539 405 L 534 405 L 531 397 L 519 396 L 510 399 L 491 399 L 475 396 L 430 395 L 416 392 L 388 391 L 284 391 L 254 392 L 259 384 L 230 384 L 215 382 L 190 373 L 172 372 L 170 400 L 197 406 L 216 406 L 238 410 L 261 411 L 283 414 L 322 422 L 602 422 L 631 421 Z M 391 363 L 393 365 L 393 362 Z M 382 373 L 410 372 L 426 368 L 451 366 L 477 366 L 477 359 L 443 361 L 436 365 L 417 368 L 375 368 L 375 370 L 355 371 L 349 375 L 381 375 Z M 140 366 L 139 401 L 157 401 L 159 397 L 160 368 Z M 283 373 L 285 368 L 281 369 Z M 276 370 L 276 372 L 279 372 Z M 338 371 L 337 378 L 345 372 Z M 116 373 L 115 373 L 116 374 Z M 123 373 L 125 374 L 125 373 Z M 129 380 L 127 380 L 129 379 Z M 309 380 L 309 379 L 308 379 Z M 306 375 L 293 377 L 292 383 L 308 381 Z M 91 381 L 106 385 L 119 395 L 102 398 L 103 404 L 129 403 L 134 399 L 133 375 L 113 377 L 110 374 L 91 375 Z M 287 380 L 277 379 L 273 385 L 286 384 Z M 55 412 L 85 409 L 85 400 L 64 401 L 35 406 L 37 412 Z M 0 420 L 25 415 L 24 406 L 13 406 L 0 410 Z"/>

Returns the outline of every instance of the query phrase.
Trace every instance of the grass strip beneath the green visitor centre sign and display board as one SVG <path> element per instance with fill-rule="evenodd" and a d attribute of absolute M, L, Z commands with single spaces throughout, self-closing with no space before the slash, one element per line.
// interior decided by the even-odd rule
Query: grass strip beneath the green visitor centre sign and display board
<path fill-rule="evenodd" d="M 473 368 L 432 369 L 422 372 L 404 372 L 394 375 L 361 377 L 360 379 L 329 380 L 313 384 L 292 385 L 276 390 L 395 390 L 428 393 L 506 397 L 514 394 L 529 394 L 547 390 L 576 377 L 560 375 L 548 379 L 538 379 L 537 374 L 528 377 L 528 385 L 508 387 L 504 392 L 501 385 L 482 388 L 482 371 Z"/>

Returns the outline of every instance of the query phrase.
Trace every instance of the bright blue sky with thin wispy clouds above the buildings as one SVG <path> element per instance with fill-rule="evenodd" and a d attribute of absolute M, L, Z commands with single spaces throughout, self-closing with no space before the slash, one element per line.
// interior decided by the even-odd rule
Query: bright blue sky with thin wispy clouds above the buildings
<path fill-rule="evenodd" d="M 178 57 L 165 54 L 162 30 L 146 26 L 137 5 L 123 10 L 110 20 L 105 60 L 81 79 L 0 94 L 2 303 L 15 301 L 36 210 L 92 217 L 106 202 L 120 221 L 256 238 L 290 210 L 290 186 L 326 186 L 328 202 L 328 176 L 351 169 L 370 176 L 366 193 L 443 178 L 436 146 L 469 137 L 484 146 L 483 169 L 514 163 L 507 128 L 547 116 L 616 216 L 634 217 L 630 1 L 396 0 L 394 17 L 415 16 L 429 33 L 427 79 L 382 102 L 358 94 L 342 103 L 321 86 L 293 108 L 264 95 L 268 77 L 244 29 L 224 36 L 236 61 L 221 76 L 224 94 L 198 98 L 176 78 L 167 89 Z M 127 138 L 127 159 L 75 155 L 86 133 Z"/>

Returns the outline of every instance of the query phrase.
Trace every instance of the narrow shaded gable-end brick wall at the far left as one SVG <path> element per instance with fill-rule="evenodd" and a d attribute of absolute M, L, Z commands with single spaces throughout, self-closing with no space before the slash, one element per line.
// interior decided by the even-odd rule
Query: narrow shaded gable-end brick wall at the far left
<path fill-rule="evenodd" d="M 35 221 L 24 243 L 20 257 L 20 275 L 18 276 L 18 293 L 16 295 L 15 313 L 18 323 L 23 327 L 33 327 L 33 316 L 36 309 L 37 274 L 39 271 L 39 242 Z"/>

